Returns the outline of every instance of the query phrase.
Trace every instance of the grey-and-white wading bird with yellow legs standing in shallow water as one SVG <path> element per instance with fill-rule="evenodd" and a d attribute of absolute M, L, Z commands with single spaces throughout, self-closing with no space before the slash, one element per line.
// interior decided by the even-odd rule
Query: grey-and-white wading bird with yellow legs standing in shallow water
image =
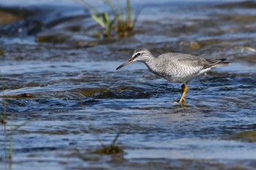
<path fill-rule="evenodd" d="M 205 59 L 184 53 L 164 53 L 155 57 L 146 48 L 138 48 L 132 57 L 125 61 L 116 70 L 127 66 L 129 63 L 139 61 L 145 63 L 149 71 L 170 82 L 182 83 L 181 98 L 175 103 L 186 104 L 187 83 L 192 78 L 204 74 L 217 66 L 226 66 L 227 58 Z"/>

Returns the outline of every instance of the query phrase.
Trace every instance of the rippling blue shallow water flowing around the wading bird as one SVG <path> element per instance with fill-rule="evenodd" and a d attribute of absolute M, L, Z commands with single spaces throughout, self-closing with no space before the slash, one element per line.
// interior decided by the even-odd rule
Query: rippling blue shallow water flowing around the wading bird
<path fill-rule="evenodd" d="M 67 4 L 27 4 L 34 15 L 0 27 L 1 169 L 255 169 L 255 143 L 232 138 L 256 129 L 256 54 L 242 50 L 255 48 L 255 1 L 137 2 L 121 39 L 94 38 L 88 12 Z M 191 80 L 181 106 L 180 85 L 142 63 L 116 71 L 137 47 L 232 63 Z M 124 154 L 96 153 L 118 133 Z"/>

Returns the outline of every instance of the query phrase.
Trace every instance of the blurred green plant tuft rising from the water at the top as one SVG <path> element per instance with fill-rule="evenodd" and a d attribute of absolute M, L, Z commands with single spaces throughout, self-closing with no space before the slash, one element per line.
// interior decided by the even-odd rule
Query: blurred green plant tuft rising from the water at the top
<path fill-rule="evenodd" d="M 113 4 L 111 0 L 101 0 L 110 7 L 110 12 L 113 13 L 112 19 L 108 12 L 99 12 L 95 7 L 87 3 L 86 0 L 74 0 L 83 7 L 89 9 L 91 12 L 91 18 L 95 20 L 102 28 L 105 29 L 104 36 L 112 36 L 112 32 L 116 32 L 118 36 L 126 36 L 133 33 L 133 28 L 137 22 L 138 15 L 140 14 L 141 8 L 135 12 L 135 18 L 132 20 L 132 7 L 130 0 L 126 1 L 126 20 L 124 20 L 123 10 L 118 4 Z"/>

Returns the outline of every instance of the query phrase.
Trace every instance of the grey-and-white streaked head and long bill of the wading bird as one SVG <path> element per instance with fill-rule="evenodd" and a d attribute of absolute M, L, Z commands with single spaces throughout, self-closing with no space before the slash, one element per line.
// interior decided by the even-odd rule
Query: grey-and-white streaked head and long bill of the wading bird
<path fill-rule="evenodd" d="M 145 62 L 148 60 L 148 58 L 150 58 L 152 55 L 151 53 L 146 50 L 145 48 L 139 48 L 137 50 L 135 50 L 132 53 L 132 57 L 129 58 L 128 61 L 122 63 L 120 66 L 118 66 L 116 69 L 121 69 L 124 66 L 127 66 L 129 63 L 132 63 L 134 61 L 140 61 L 140 62 Z"/>

